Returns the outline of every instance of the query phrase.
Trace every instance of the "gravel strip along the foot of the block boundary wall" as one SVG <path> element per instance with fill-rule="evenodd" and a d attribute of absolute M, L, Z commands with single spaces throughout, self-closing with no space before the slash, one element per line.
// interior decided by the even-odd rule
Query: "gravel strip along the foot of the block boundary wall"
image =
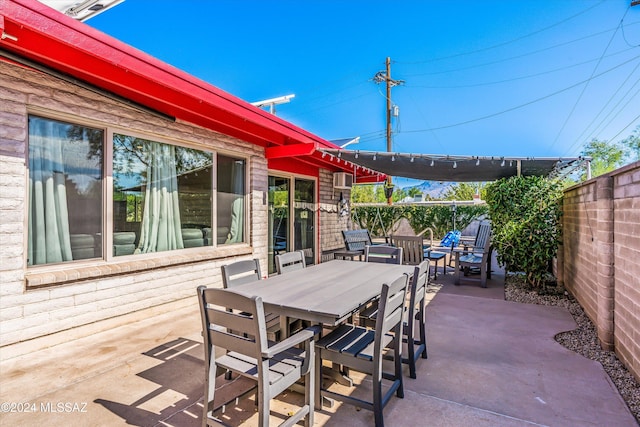
<path fill-rule="evenodd" d="M 508 275 L 505 283 L 505 299 L 528 304 L 554 305 L 568 309 L 578 327 L 573 331 L 556 335 L 556 341 L 569 350 L 600 362 L 640 423 L 640 383 L 627 371 L 614 352 L 600 348 L 595 326 L 571 295 L 562 291 L 549 295 L 538 295 L 528 289 L 522 276 Z"/>

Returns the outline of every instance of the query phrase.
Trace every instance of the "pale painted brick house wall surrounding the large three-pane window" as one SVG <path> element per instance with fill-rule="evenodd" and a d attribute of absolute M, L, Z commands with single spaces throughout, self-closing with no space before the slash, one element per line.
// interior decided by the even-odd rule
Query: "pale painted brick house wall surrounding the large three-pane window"
<path fill-rule="evenodd" d="M 222 286 L 220 266 L 261 259 L 266 271 L 267 163 L 253 145 L 171 122 L 28 68 L 0 61 L 0 359 L 139 320 L 197 306 L 198 285 Z M 92 260 L 27 269 L 29 112 L 116 127 L 249 158 L 250 244 L 193 248 L 140 260 Z"/>

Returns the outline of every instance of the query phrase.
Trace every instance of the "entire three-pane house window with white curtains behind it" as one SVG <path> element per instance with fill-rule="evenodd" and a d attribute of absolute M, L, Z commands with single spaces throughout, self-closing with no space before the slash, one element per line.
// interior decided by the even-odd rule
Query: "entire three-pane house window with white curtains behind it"
<path fill-rule="evenodd" d="M 245 159 L 106 134 L 29 117 L 28 265 L 245 241 Z"/>

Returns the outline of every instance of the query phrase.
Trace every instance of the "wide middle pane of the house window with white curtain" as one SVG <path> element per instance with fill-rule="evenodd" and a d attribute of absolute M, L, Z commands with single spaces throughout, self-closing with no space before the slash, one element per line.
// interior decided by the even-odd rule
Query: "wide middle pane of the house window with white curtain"
<path fill-rule="evenodd" d="M 113 255 L 212 244 L 213 154 L 113 135 Z"/>

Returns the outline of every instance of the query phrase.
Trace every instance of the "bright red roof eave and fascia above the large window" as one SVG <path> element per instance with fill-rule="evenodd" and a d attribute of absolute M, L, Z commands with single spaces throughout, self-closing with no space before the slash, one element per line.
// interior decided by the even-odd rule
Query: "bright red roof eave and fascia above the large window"
<path fill-rule="evenodd" d="M 164 114 L 261 146 L 315 143 L 336 148 L 144 52 L 35 0 L 0 0 L 0 46 Z"/>

